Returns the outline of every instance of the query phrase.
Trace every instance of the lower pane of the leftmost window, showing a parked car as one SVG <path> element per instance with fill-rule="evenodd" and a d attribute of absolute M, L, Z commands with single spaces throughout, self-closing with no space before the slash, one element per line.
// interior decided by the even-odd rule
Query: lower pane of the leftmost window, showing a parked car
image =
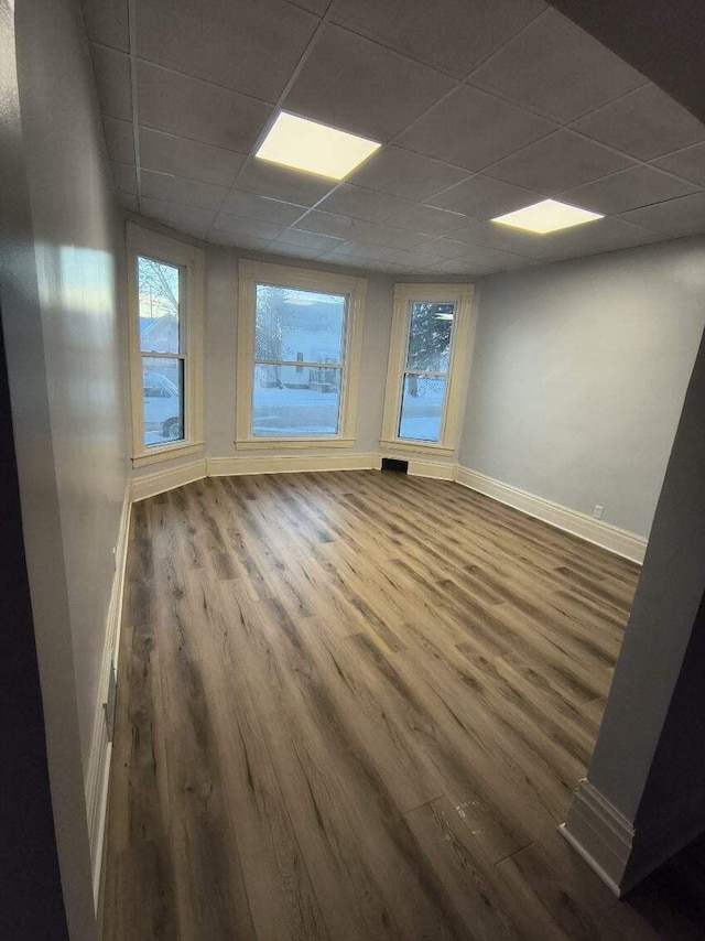
<path fill-rule="evenodd" d="M 144 444 L 184 440 L 184 360 L 142 357 Z"/>

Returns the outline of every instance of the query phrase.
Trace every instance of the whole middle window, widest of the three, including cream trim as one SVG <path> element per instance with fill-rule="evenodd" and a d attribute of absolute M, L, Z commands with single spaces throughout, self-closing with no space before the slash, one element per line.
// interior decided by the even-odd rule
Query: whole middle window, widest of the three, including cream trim
<path fill-rule="evenodd" d="M 236 446 L 355 441 L 366 281 L 240 262 Z"/>

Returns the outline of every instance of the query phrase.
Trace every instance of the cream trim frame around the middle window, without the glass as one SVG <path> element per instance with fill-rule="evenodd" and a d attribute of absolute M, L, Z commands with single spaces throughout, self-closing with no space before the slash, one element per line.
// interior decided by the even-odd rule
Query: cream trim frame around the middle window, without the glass
<path fill-rule="evenodd" d="M 347 294 L 347 323 L 340 386 L 340 429 L 336 435 L 310 437 L 256 437 L 252 429 L 252 381 L 254 376 L 254 305 L 257 284 L 280 284 L 326 294 Z M 238 351 L 235 446 L 243 451 L 352 447 L 357 423 L 358 382 L 362 350 L 362 326 L 367 280 L 326 271 L 268 264 L 241 259 L 239 263 Z M 293 364 L 295 365 L 295 364 Z"/>

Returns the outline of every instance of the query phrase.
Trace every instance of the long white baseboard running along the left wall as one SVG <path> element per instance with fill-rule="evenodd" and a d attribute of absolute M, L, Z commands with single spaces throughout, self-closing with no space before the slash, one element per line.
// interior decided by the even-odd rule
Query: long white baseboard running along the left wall
<path fill-rule="evenodd" d="M 100 889 L 100 867 L 102 863 L 102 843 L 108 802 L 108 780 L 110 775 L 110 755 L 112 745 L 108 742 L 108 728 L 105 721 L 102 704 L 108 699 L 108 681 L 110 664 L 118 661 L 118 645 L 120 640 L 120 620 L 122 618 L 122 597 L 124 594 L 124 570 L 128 555 L 128 537 L 130 531 L 129 485 L 122 501 L 122 512 L 116 544 L 115 575 L 106 618 L 106 639 L 100 664 L 100 682 L 94 715 L 93 736 L 88 771 L 86 774 L 86 812 L 88 816 L 88 839 L 90 841 L 90 864 L 93 873 L 93 891 L 96 910 L 98 908 L 98 891 Z"/>

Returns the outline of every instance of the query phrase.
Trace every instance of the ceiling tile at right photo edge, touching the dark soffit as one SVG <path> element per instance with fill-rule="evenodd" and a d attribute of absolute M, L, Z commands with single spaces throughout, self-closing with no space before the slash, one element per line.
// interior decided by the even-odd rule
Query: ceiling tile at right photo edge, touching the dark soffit
<path fill-rule="evenodd" d="M 640 160 L 705 140 L 705 126 L 655 85 L 632 91 L 573 127 Z"/>

